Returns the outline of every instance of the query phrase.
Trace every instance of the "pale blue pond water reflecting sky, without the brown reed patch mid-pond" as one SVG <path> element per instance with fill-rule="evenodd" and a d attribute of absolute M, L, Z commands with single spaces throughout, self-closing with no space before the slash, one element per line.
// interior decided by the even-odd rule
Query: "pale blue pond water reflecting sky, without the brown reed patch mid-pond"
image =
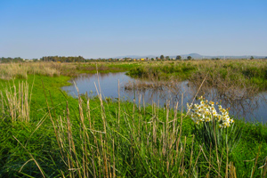
<path fill-rule="evenodd" d="M 99 78 L 99 83 L 98 83 Z M 136 83 L 138 80 L 134 80 L 131 77 L 125 75 L 125 73 L 100 73 L 99 77 L 96 74 L 86 74 L 80 77 L 74 78 L 70 82 L 74 84 L 74 81 L 79 89 L 79 93 L 89 93 L 89 95 L 96 95 L 95 85 L 99 90 L 101 87 L 101 94 L 104 97 L 117 98 L 117 84 L 119 80 L 120 85 L 120 96 L 125 100 L 139 102 L 144 100 L 145 103 L 157 102 L 161 106 L 164 106 L 167 100 L 171 101 L 171 106 L 174 103 L 179 102 L 179 109 L 183 105 L 184 109 L 187 102 L 191 102 L 197 88 L 191 87 L 188 82 L 181 82 L 175 84 L 175 89 L 167 89 L 166 87 L 162 90 L 147 89 L 143 91 L 125 90 L 124 86 L 128 82 Z M 95 84 L 95 85 L 94 85 Z M 63 90 L 69 92 L 72 96 L 77 97 L 77 90 L 74 85 L 64 86 Z M 248 97 L 246 99 L 235 99 L 233 97 L 227 97 L 214 88 L 206 89 L 205 97 L 207 100 L 214 102 L 218 101 L 223 105 L 223 108 L 231 108 L 230 114 L 236 117 L 245 117 L 246 120 L 258 120 L 267 122 L 267 93 L 258 93 L 254 97 Z M 183 94 L 182 94 L 183 93 Z M 201 92 L 200 92 L 201 93 Z M 238 91 L 241 93 L 241 91 Z M 144 98 L 143 98 L 144 97 Z"/>

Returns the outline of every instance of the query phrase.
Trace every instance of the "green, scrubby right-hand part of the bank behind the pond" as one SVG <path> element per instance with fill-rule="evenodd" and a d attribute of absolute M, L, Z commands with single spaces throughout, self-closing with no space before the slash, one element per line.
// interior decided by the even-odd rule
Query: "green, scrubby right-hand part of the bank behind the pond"
<path fill-rule="evenodd" d="M 166 61 L 151 62 L 130 69 L 131 77 L 190 80 L 200 85 L 206 78 L 206 85 L 223 87 L 255 86 L 267 89 L 267 61 L 264 60 L 220 60 L 220 61 Z"/>

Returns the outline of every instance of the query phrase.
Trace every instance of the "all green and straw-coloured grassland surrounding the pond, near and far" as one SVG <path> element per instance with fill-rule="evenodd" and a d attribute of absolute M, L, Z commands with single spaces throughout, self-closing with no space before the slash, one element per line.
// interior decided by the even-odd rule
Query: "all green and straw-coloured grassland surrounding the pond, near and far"
<path fill-rule="evenodd" d="M 77 99 L 61 91 L 96 71 L 254 91 L 267 79 L 258 60 L 1 64 L 0 177 L 267 177 L 266 124 L 196 125 L 186 103 L 144 106 L 119 92 L 106 100 L 99 87 Z"/>

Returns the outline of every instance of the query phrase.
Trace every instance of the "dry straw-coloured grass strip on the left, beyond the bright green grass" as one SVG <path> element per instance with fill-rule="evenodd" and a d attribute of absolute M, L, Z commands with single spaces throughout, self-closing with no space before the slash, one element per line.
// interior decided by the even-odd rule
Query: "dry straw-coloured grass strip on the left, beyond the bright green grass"
<path fill-rule="evenodd" d="M 48 76 L 48 77 L 77 77 L 81 73 L 99 72 L 123 72 L 139 66 L 139 62 L 79 62 L 79 63 L 59 63 L 59 62 L 23 62 L 23 63 L 3 63 L 0 65 L 0 78 L 23 78 L 28 75 Z"/>

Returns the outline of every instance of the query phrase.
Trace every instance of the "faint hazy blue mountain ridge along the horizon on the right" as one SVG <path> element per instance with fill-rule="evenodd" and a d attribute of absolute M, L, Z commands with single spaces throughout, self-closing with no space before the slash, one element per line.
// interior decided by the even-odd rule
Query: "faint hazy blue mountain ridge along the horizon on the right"
<path fill-rule="evenodd" d="M 261 58 L 266 58 L 266 56 L 256 56 L 256 55 L 241 55 L 241 56 L 233 56 L 233 55 L 201 55 L 198 53 L 189 53 L 189 54 L 177 54 L 177 55 L 165 55 L 163 54 L 165 57 L 169 56 L 170 58 L 176 58 L 177 55 L 180 55 L 182 57 L 182 59 L 187 58 L 188 56 L 191 56 L 193 59 L 213 59 L 213 58 L 219 58 L 219 59 L 249 59 L 251 56 L 253 56 L 255 59 L 261 59 Z M 122 56 L 117 56 L 115 58 L 132 58 L 132 59 L 141 59 L 141 58 L 156 58 L 156 57 L 160 57 L 157 55 L 122 55 Z"/>

